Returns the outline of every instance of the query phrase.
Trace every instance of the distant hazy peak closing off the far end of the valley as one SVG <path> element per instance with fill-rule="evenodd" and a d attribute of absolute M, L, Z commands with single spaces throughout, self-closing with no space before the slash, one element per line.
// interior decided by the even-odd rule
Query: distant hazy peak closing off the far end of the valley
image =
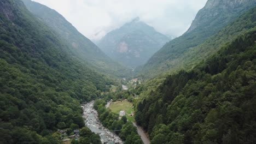
<path fill-rule="evenodd" d="M 168 40 L 139 17 L 107 33 L 98 46 L 111 58 L 126 65 L 137 67 L 148 61 Z"/>

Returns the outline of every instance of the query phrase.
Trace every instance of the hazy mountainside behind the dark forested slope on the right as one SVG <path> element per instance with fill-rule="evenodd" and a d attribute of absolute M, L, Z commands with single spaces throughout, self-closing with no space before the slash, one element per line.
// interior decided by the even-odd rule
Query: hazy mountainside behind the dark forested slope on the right
<path fill-rule="evenodd" d="M 218 34 L 222 28 L 255 5 L 254 0 L 207 1 L 205 7 L 197 13 L 188 31 L 164 45 L 137 72 L 144 77 L 154 77 L 167 71 L 193 68 L 202 59 L 216 52 L 218 45 L 222 44 L 216 43 L 217 45 L 210 46 L 211 44 L 207 44 L 206 40 L 211 40 L 214 34 Z M 229 38 L 229 35 L 225 38 Z"/>

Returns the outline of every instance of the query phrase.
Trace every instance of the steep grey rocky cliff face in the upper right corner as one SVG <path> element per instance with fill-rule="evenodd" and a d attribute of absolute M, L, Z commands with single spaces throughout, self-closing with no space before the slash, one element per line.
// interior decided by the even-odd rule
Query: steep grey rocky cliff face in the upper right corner
<path fill-rule="evenodd" d="M 197 27 L 212 26 L 216 22 L 228 22 L 233 17 L 231 13 L 241 13 L 250 5 L 255 5 L 255 0 L 209 0 L 205 7 L 197 13 L 195 20 L 191 24 L 188 32 L 193 31 Z M 215 20 L 214 20 L 215 19 Z"/>

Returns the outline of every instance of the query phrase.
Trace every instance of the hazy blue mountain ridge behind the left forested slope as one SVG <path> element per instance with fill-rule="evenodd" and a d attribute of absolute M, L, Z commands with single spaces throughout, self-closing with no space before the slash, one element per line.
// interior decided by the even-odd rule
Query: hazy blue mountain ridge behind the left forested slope
<path fill-rule="evenodd" d="M 92 41 L 84 37 L 77 31 L 71 23 L 69 23 L 57 11 L 46 7 L 37 2 L 30 0 L 22 0 L 27 9 L 31 11 L 38 19 L 54 32 L 60 35 L 63 41 L 69 45 L 74 57 L 78 57 L 82 62 L 86 62 L 91 68 L 100 71 L 103 74 L 111 76 L 124 77 L 130 74 L 130 70 L 123 67 L 117 62 L 110 59 L 101 51 Z"/>

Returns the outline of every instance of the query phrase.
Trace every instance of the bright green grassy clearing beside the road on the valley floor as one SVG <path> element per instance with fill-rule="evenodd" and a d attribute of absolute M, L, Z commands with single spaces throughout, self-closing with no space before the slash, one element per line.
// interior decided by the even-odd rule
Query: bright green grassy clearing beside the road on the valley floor
<path fill-rule="evenodd" d="M 121 100 L 121 101 L 115 101 L 112 102 L 109 106 L 109 109 L 114 112 L 114 113 L 118 113 L 122 110 L 124 110 L 126 112 L 126 117 L 129 121 L 133 121 L 133 117 L 129 116 L 132 112 L 134 112 L 132 103 L 130 103 L 127 100 Z"/>

